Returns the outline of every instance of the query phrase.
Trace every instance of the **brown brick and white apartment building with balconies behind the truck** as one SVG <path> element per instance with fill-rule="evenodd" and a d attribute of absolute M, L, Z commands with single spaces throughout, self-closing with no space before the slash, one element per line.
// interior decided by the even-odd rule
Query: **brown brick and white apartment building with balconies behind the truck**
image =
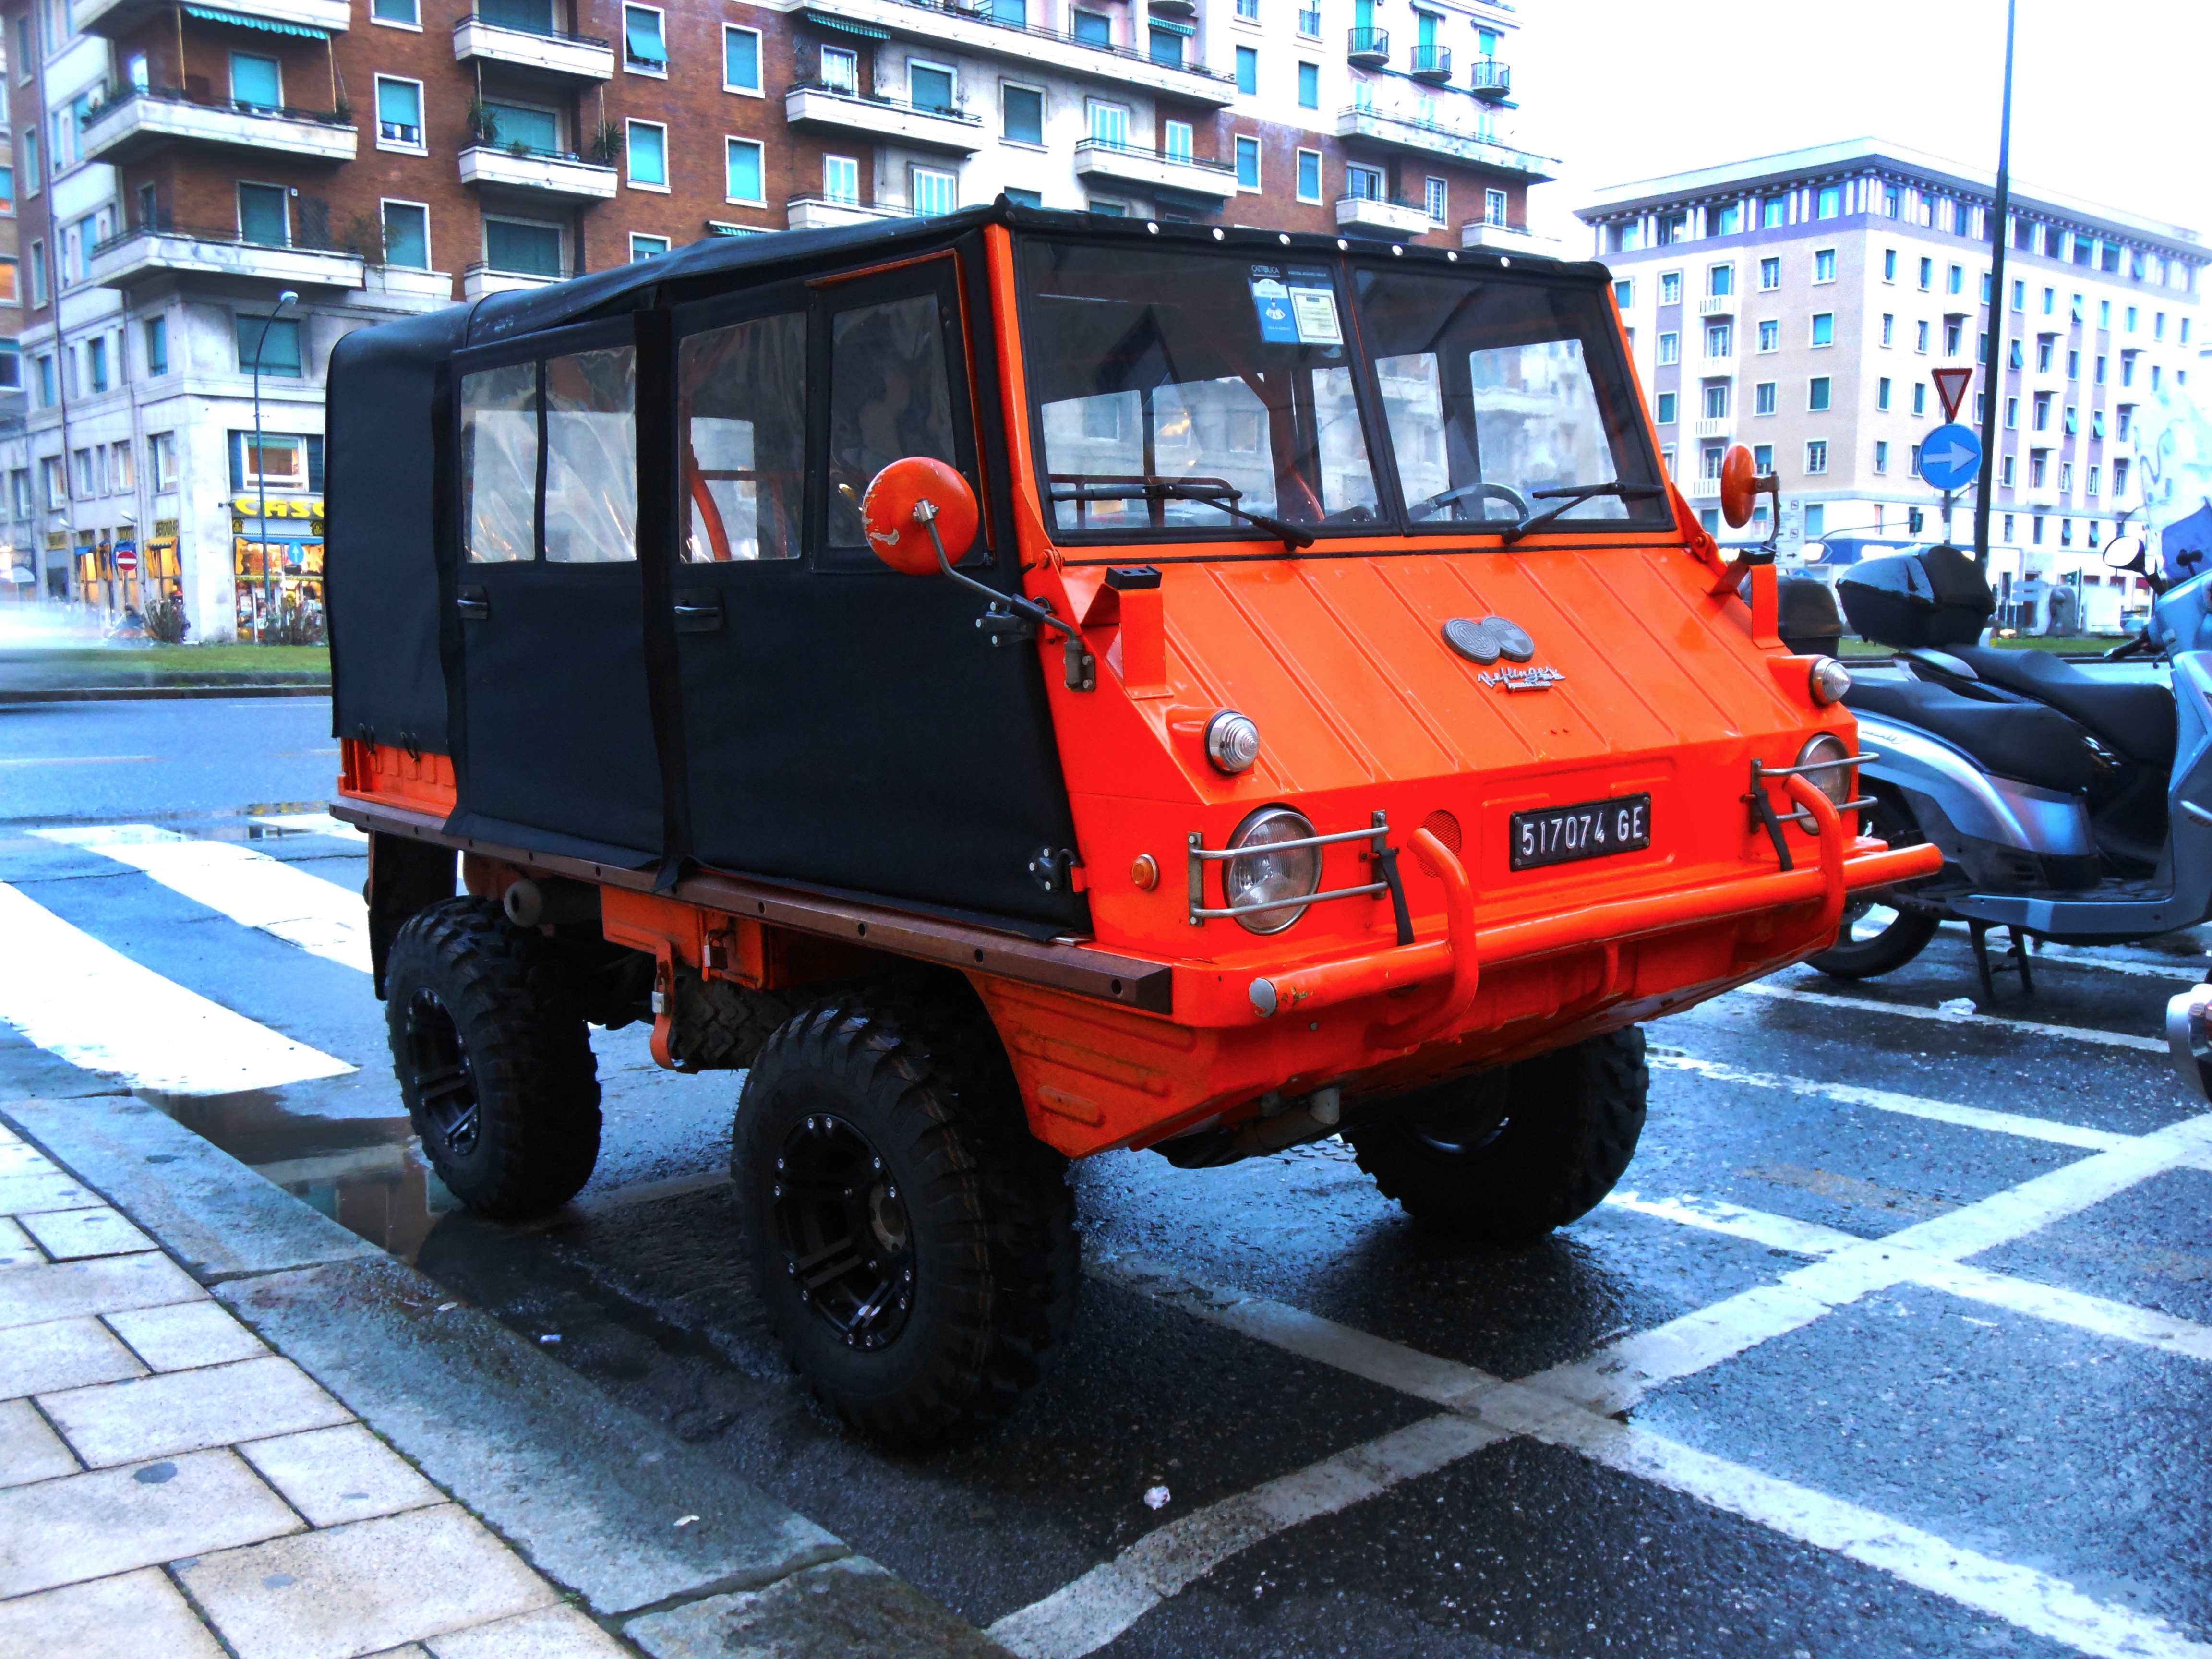
<path fill-rule="evenodd" d="M 106 613 L 181 593 L 208 639 L 316 608 L 321 378 L 347 330 L 1000 190 L 1528 246 L 1548 177 L 1506 142 L 1517 20 L 1495 0 L 11 0 L 0 20 L 29 387 L 0 434 L 7 535 L 40 593 Z"/>

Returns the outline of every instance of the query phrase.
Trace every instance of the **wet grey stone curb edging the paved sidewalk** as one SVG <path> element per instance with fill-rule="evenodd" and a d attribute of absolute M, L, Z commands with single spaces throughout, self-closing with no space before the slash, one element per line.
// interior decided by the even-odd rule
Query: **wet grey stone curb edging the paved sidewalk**
<path fill-rule="evenodd" d="M 7 1121 L 657 1659 L 1006 1659 L 843 1540 L 133 1097 Z M 743 1646 L 737 1646 L 737 1644 Z"/>

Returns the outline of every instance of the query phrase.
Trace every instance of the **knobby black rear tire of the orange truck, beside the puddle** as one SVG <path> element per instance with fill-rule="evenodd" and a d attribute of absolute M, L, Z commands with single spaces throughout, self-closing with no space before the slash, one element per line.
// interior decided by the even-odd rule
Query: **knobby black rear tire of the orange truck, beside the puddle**
<path fill-rule="evenodd" d="M 392 1068 L 447 1190 L 495 1221 L 573 1199 L 599 1161 L 599 1075 L 546 938 L 449 898 L 392 940 L 385 993 Z"/>

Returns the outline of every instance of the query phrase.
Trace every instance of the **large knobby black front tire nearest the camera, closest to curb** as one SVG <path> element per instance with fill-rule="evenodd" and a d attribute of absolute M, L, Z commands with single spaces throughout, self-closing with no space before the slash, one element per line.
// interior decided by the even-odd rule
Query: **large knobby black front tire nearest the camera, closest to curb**
<path fill-rule="evenodd" d="M 1044 1378 L 1075 1194 L 980 1009 L 858 989 L 792 1018 L 745 1077 L 730 1175 L 770 1327 L 854 1429 L 964 1438 Z"/>

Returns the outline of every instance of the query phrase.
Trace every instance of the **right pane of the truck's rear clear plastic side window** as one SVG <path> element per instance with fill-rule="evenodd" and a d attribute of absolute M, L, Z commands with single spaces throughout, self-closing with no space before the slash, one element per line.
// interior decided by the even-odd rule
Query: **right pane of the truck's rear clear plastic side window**
<path fill-rule="evenodd" d="M 637 557 L 637 347 L 546 361 L 546 560 Z"/>

